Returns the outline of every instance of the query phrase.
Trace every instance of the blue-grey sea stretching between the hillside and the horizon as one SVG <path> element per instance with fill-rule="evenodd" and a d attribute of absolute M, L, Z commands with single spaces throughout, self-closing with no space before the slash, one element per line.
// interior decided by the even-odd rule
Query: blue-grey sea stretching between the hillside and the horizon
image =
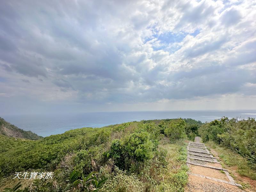
<path fill-rule="evenodd" d="M 6 121 L 25 131 L 46 137 L 82 127 L 103 127 L 130 121 L 149 119 L 191 118 L 209 122 L 223 116 L 232 118 L 256 118 L 256 110 L 211 110 L 211 111 L 135 111 L 97 112 L 80 114 L 6 115 Z"/>

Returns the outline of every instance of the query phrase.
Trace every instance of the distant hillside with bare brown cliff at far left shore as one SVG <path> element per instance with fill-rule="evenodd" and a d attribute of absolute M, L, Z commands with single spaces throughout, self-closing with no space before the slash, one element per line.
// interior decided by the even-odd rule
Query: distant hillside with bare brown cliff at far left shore
<path fill-rule="evenodd" d="M 0 135 L 5 135 L 8 137 L 16 137 L 22 139 L 38 140 L 42 139 L 42 136 L 37 135 L 31 131 L 24 131 L 19 129 L 15 125 L 10 124 L 0 117 Z"/>

